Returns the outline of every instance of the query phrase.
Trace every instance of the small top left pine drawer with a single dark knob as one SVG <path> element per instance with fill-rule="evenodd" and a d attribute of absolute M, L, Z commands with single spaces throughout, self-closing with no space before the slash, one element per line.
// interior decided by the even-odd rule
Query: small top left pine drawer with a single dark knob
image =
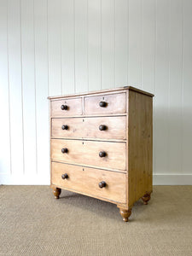
<path fill-rule="evenodd" d="M 62 99 L 50 102 L 52 116 L 71 116 L 82 114 L 82 99 Z"/>

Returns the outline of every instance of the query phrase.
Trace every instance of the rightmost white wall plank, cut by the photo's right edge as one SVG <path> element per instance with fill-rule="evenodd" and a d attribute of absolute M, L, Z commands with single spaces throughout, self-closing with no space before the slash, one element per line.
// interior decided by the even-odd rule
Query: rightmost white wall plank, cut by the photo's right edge
<path fill-rule="evenodd" d="M 191 174 L 192 157 L 192 1 L 183 1 L 183 173 Z"/>

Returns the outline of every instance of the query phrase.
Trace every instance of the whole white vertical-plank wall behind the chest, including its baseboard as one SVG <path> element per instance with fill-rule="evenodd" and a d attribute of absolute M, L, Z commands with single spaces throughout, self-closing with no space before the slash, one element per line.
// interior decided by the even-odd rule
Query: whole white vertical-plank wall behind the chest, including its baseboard
<path fill-rule="evenodd" d="M 154 97 L 154 183 L 192 184 L 191 0 L 0 0 L 0 183 L 49 183 L 47 96 Z"/>

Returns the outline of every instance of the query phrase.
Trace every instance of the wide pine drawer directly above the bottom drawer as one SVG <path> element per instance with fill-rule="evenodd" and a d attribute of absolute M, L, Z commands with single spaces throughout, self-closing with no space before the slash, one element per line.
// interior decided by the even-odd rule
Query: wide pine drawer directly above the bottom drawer
<path fill-rule="evenodd" d="M 51 139 L 51 159 L 82 166 L 125 170 L 125 143 Z"/>

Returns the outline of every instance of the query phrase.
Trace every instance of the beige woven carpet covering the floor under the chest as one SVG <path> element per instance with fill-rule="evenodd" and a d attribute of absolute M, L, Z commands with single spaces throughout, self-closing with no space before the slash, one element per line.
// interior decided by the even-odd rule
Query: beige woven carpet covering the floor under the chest
<path fill-rule="evenodd" d="M 192 255 L 192 186 L 155 186 L 130 222 L 108 202 L 0 186 L 0 255 Z"/>

